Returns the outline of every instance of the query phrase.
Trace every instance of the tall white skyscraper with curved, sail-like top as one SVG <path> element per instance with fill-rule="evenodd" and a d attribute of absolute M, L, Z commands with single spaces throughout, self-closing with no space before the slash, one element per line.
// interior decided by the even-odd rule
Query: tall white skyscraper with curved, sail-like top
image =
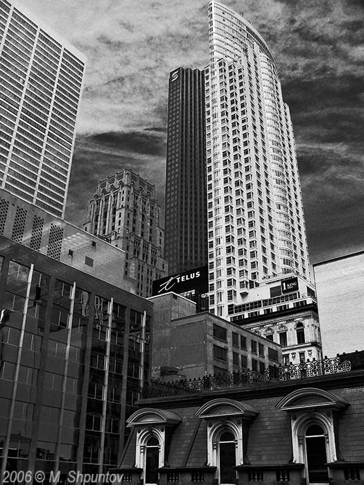
<path fill-rule="evenodd" d="M 228 308 L 265 298 L 261 288 L 278 276 L 309 281 L 309 256 L 293 128 L 272 52 L 250 22 L 215 1 L 209 48 L 209 306 L 227 317 Z"/>

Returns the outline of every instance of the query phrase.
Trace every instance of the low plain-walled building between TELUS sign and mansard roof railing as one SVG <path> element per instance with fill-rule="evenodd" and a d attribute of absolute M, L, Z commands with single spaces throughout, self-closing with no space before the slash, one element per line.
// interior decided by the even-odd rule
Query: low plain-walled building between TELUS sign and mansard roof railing
<path fill-rule="evenodd" d="M 151 376 L 156 379 L 202 378 L 209 374 L 264 373 L 282 364 L 282 349 L 241 326 L 209 312 L 175 293 L 152 297 Z"/>

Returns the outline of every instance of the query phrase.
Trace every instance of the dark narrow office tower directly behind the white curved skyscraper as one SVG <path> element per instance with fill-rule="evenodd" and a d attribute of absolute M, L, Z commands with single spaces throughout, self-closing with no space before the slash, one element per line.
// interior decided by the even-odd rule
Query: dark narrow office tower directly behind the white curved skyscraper
<path fill-rule="evenodd" d="M 205 73 L 179 67 L 168 88 L 165 257 L 168 274 L 207 264 Z"/>

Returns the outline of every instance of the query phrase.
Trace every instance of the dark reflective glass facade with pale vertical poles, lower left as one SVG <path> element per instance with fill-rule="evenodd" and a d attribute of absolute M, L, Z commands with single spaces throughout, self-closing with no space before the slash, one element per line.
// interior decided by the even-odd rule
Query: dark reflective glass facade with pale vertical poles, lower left
<path fill-rule="evenodd" d="M 116 466 L 149 376 L 151 303 L 0 236 L 0 308 L 1 472 Z"/>

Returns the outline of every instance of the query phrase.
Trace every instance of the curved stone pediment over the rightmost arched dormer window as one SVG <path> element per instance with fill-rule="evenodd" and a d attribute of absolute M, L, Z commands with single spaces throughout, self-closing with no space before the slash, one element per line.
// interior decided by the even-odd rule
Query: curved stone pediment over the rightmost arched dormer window
<path fill-rule="evenodd" d="M 285 396 L 276 407 L 285 411 L 297 411 L 297 409 L 310 409 L 313 407 L 342 409 L 348 405 L 349 403 L 345 398 L 336 394 L 315 387 L 304 387 Z"/>

